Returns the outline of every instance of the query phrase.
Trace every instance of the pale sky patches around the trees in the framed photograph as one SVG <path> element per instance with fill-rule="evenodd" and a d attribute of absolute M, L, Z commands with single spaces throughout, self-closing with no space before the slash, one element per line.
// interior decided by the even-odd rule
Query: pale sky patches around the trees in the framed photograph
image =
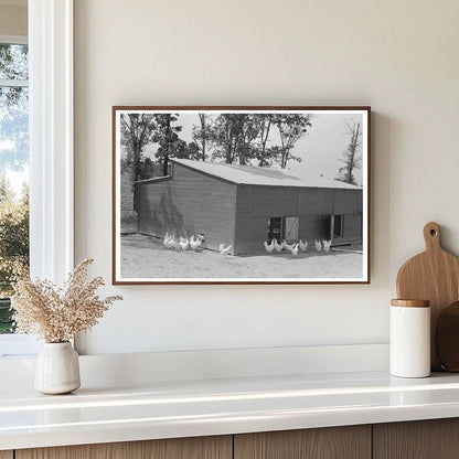
<path fill-rule="evenodd" d="M 320 177 L 322 174 L 324 178 L 335 179 L 338 170 L 343 166 L 340 159 L 343 158 L 343 152 L 350 142 L 346 122 L 360 122 L 362 126 L 362 119 L 361 114 L 316 114 L 307 136 L 295 146 L 293 154 L 300 157 L 301 162 L 289 161 L 287 170 L 296 175 Z M 190 142 L 192 140 L 192 127 L 199 124 L 198 114 L 180 113 L 177 124 L 183 126 L 179 135 L 180 138 Z M 278 138 L 276 129 L 271 129 L 271 132 L 270 142 L 276 145 Z M 146 150 L 153 152 L 157 148 L 158 146 L 151 146 Z M 361 156 L 362 150 L 359 151 L 359 157 Z M 254 163 L 254 166 L 257 164 Z M 360 184 L 362 182 L 362 170 L 355 170 L 354 177 Z"/>

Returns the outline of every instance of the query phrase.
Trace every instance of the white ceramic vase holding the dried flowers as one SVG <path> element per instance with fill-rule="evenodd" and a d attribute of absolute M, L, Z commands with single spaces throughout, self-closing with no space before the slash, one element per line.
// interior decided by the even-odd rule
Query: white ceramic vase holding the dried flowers
<path fill-rule="evenodd" d="M 68 394 L 79 387 L 78 354 L 67 341 L 44 343 L 36 359 L 34 387 L 43 394 Z"/>

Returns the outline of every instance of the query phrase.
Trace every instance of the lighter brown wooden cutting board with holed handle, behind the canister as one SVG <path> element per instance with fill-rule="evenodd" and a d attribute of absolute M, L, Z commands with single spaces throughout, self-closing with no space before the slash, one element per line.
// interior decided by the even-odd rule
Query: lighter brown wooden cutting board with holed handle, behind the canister
<path fill-rule="evenodd" d="M 431 369 L 438 371 L 441 365 L 435 350 L 435 329 L 441 309 L 459 299 L 459 259 L 441 248 L 437 223 L 424 226 L 424 239 L 426 252 L 408 259 L 398 271 L 397 296 L 430 301 L 430 360 Z"/>

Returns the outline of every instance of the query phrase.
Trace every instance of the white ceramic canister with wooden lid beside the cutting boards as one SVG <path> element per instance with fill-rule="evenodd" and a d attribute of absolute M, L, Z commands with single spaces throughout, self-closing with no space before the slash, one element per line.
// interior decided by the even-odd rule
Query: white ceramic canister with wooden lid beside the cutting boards
<path fill-rule="evenodd" d="M 398 377 L 430 375 L 430 307 L 427 300 L 391 301 L 391 364 Z"/>

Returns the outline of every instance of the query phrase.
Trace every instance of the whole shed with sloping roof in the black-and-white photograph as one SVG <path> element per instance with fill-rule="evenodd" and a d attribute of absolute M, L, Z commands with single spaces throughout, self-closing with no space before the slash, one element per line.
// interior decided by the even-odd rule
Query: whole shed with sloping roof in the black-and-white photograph
<path fill-rule="evenodd" d="M 273 238 L 362 243 L 360 186 L 269 168 L 171 162 L 170 175 L 136 182 L 141 234 L 202 234 L 203 246 L 218 250 L 220 244 L 232 244 L 233 255 L 263 253 Z"/>

